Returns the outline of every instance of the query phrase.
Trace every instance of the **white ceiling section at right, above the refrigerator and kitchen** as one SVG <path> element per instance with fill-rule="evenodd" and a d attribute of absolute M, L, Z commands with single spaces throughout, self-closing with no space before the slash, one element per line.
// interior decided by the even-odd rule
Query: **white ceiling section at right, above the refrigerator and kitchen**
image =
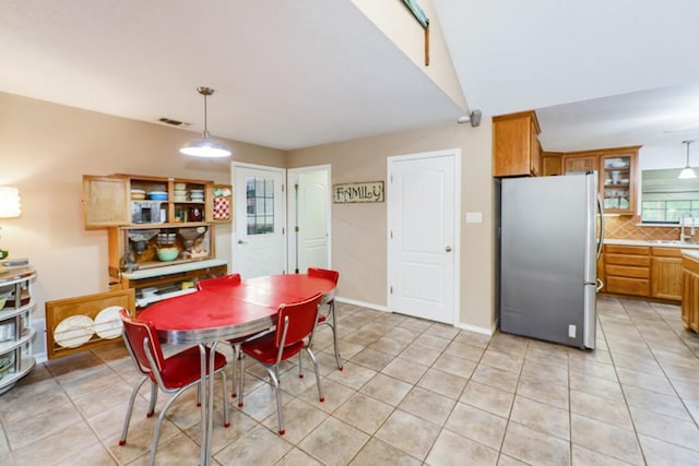
<path fill-rule="evenodd" d="M 535 109 L 546 151 L 699 136 L 699 3 L 435 0 L 471 108 Z"/>

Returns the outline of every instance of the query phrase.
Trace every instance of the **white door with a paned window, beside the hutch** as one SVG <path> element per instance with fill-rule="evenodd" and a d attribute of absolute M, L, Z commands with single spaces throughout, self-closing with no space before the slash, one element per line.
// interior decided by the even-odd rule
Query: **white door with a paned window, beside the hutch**
<path fill-rule="evenodd" d="M 244 278 L 286 273 L 285 170 L 233 164 L 233 272 Z"/>

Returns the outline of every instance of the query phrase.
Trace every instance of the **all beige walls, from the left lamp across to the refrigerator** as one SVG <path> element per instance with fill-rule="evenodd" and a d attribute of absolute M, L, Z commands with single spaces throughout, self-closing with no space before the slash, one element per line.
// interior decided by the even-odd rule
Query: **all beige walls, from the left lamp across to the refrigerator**
<path fill-rule="evenodd" d="M 465 224 L 461 244 L 461 322 L 493 323 L 490 123 L 362 139 L 285 154 L 234 141 L 235 160 L 289 168 L 330 164 L 332 182 L 386 180 L 387 157 L 459 147 L 462 211 L 482 212 Z M 107 286 L 107 232 L 85 230 L 82 175 L 126 172 L 230 182 L 229 160 L 193 159 L 178 147 L 194 133 L 0 93 L 0 186 L 22 195 L 20 218 L 0 219 L 0 248 L 29 258 L 38 271 L 37 313 L 44 302 L 94 294 Z M 386 304 L 386 203 L 333 205 L 333 266 L 340 295 Z M 216 255 L 230 258 L 230 226 L 217 226 Z"/>

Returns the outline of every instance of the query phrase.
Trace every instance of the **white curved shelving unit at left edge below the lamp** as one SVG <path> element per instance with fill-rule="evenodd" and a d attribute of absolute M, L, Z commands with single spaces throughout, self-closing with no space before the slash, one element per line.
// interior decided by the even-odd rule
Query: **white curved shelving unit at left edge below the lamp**
<path fill-rule="evenodd" d="M 36 359 L 32 356 L 32 340 L 36 333 L 32 326 L 32 311 L 36 302 L 31 292 L 28 301 L 22 304 L 23 291 L 29 291 L 35 278 L 36 272 L 31 266 L 0 266 L 0 290 L 13 290 L 12 298 L 0 310 L 0 325 L 13 327 L 9 332 L 12 337 L 0 342 L 0 362 L 11 361 L 10 369 L 0 378 L 0 394 L 12 389 L 36 365 Z M 0 363 L 0 367 L 3 366 Z"/>

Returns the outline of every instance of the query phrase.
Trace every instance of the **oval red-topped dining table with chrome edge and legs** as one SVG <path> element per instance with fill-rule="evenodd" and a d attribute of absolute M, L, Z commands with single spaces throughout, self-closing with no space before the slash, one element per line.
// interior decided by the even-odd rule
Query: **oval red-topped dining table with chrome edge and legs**
<path fill-rule="evenodd" d="M 162 343 L 199 345 L 201 354 L 201 464 L 211 464 L 213 431 L 213 380 L 206 390 L 205 346 L 221 340 L 253 335 L 272 328 L 280 304 L 323 294 L 323 302 L 334 297 L 333 280 L 306 274 L 270 275 L 216 286 L 151 304 L 137 315 L 150 321 Z"/>

